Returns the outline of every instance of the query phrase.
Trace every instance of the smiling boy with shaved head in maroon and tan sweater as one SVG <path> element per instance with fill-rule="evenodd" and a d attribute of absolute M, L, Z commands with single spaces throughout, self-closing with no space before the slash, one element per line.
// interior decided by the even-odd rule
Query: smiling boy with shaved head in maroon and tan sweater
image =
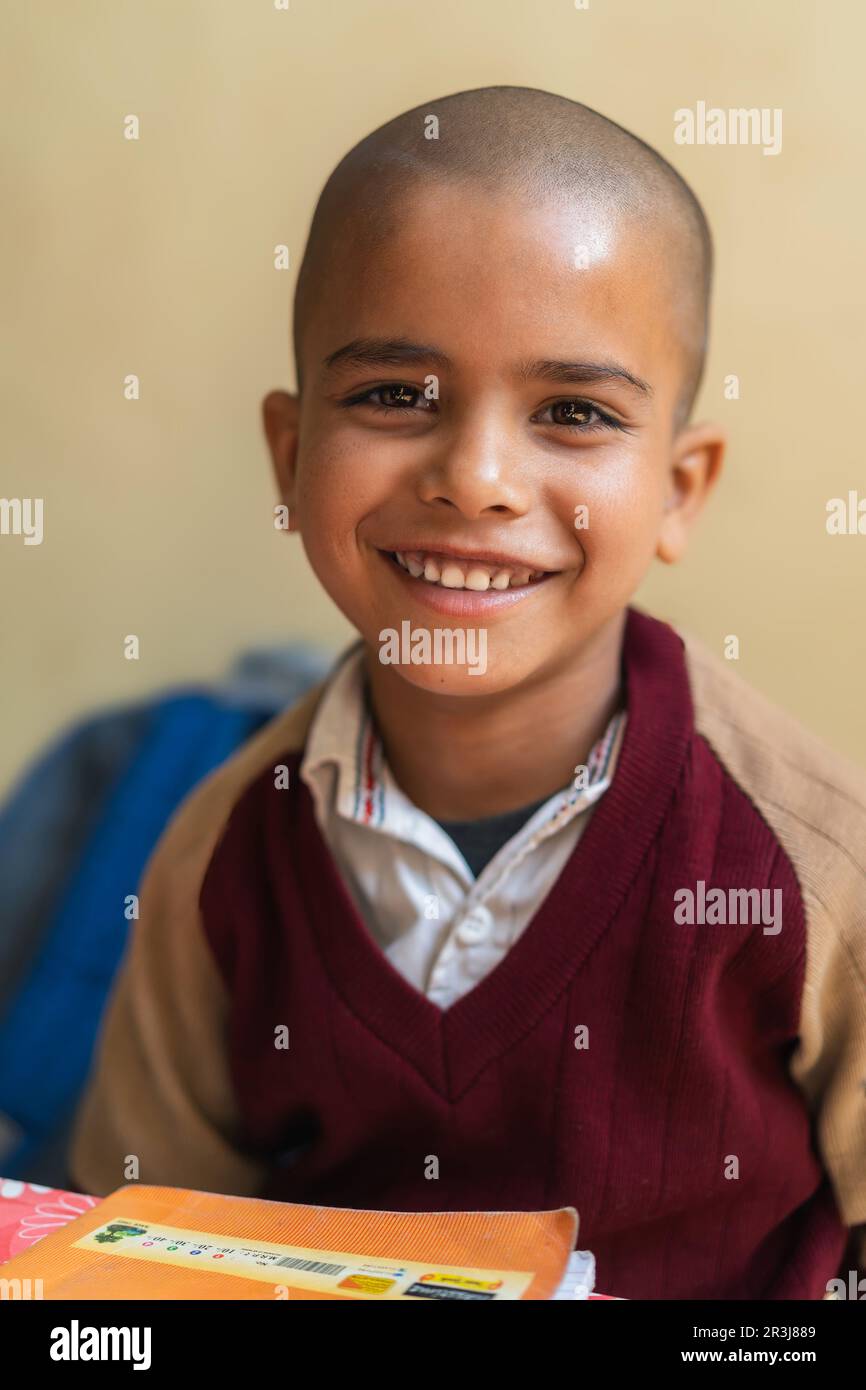
<path fill-rule="evenodd" d="M 417 107 L 331 175 L 264 423 L 360 639 L 163 837 L 79 1184 L 133 1154 L 570 1204 L 627 1297 L 816 1298 L 862 1259 L 862 780 L 630 607 L 720 468 L 710 261 L 674 170 L 544 92 Z"/>

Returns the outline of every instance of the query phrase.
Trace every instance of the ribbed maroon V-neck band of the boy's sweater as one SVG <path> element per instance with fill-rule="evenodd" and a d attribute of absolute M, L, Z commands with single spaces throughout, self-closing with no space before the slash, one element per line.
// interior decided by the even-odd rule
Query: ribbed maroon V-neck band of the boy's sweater
<path fill-rule="evenodd" d="M 297 781 L 292 867 L 310 930 L 346 1006 L 448 1099 L 553 1006 L 614 920 L 662 826 L 694 730 L 681 638 L 628 609 L 628 720 L 613 781 L 549 894 L 499 965 L 442 1011 L 370 935 Z"/>

